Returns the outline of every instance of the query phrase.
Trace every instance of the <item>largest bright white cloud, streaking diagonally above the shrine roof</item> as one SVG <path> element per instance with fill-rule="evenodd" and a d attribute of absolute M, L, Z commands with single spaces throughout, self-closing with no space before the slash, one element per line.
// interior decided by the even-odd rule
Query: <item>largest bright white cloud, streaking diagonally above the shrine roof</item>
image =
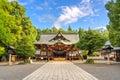
<path fill-rule="evenodd" d="M 54 23 L 54 26 L 60 28 L 62 25 L 77 22 L 79 19 L 90 15 L 94 15 L 90 0 L 82 0 L 78 6 L 62 7 L 62 13 Z"/>

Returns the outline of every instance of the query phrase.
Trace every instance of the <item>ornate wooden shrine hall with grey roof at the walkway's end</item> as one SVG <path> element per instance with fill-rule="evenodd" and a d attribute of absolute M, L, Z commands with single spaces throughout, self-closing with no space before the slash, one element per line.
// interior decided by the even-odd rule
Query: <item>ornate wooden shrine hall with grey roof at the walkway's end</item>
<path fill-rule="evenodd" d="M 75 48 L 79 41 L 77 33 L 44 33 L 34 45 L 39 50 L 35 53 L 36 60 L 79 60 L 80 51 Z"/>

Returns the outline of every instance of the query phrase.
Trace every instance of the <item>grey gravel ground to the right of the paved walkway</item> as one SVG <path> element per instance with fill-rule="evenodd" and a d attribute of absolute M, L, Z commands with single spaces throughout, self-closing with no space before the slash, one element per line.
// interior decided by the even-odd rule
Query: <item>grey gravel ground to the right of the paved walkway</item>
<path fill-rule="evenodd" d="M 120 64 L 82 64 L 74 63 L 99 80 L 120 80 Z"/>

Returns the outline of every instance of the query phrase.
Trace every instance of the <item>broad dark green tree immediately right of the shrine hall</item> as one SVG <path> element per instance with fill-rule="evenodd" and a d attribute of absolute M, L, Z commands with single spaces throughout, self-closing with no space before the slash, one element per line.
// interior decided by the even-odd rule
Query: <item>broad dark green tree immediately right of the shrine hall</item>
<path fill-rule="evenodd" d="M 103 33 L 91 29 L 88 31 L 80 29 L 79 38 L 80 41 L 78 42 L 77 47 L 81 50 L 88 50 L 88 55 L 92 54 L 95 50 L 100 49 L 107 40 Z"/>

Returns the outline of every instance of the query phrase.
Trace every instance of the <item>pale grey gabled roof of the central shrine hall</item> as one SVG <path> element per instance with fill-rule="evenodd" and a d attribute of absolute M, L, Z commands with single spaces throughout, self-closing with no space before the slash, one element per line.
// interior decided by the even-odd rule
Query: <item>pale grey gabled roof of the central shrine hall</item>
<path fill-rule="evenodd" d="M 62 38 L 64 39 L 61 39 L 58 37 L 58 39 L 54 39 L 56 38 L 58 35 L 61 35 Z M 53 39 L 53 40 L 52 40 Z M 55 34 L 55 33 L 44 33 L 44 34 L 41 34 L 41 37 L 40 37 L 40 40 L 38 42 L 35 42 L 34 44 L 47 44 L 47 45 L 54 45 L 58 42 L 61 42 L 63 44 L 66 44 L 66 45 L 71 45 L 71 44 L 75 44 L 79 41 L 79 35 L 77 33 L 58 33 L 58 34 Z"/>

